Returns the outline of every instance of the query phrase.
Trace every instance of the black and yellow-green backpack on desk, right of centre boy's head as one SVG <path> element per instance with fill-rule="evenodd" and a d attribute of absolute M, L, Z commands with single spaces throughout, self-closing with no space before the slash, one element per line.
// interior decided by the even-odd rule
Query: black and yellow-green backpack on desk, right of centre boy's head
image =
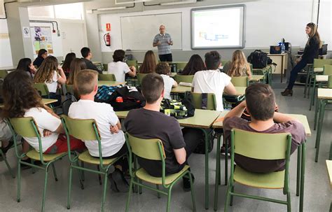
<path fill-rule="evenodd" d="M 181 101 L 162 99 L 160 104 L 160 112 L 166 115 L 173 116 L 177 119 L 183 119 L 188 117 L 188 111 L 186 106 Z"/>

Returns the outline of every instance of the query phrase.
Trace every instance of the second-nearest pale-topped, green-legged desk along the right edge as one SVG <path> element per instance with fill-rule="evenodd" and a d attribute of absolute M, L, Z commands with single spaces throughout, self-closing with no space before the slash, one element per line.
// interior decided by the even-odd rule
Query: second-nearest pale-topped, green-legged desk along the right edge
<path fill-rule="evenodd" d="M 330 88 L 318 88 L 317 91 L 317 98 L 319 99 L 319 102 L 317 101 L 316 105 L 316 112 L 314 114 L 314 125 L 316 125 L 317 122 L 317 113 L 319 108 L 319 116 L 318 116 L 318 127 L 317 127 L 317 136 L 316 136 L 316 157 L 314 159 L 315 162 L 318 161 L 318 153 L 319 153 L 319 143 L 321 140 L 321 128 L 323 127 L 323 120 L 324 120 L 324 112 L 326 104 L 331 104 L 332 102 L 332 89 Z"/>

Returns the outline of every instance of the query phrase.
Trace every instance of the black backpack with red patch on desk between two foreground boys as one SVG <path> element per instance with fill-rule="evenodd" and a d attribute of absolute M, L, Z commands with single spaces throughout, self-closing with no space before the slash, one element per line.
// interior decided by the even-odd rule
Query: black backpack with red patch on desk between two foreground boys
<path fill-rule="evenodd" d="M 111 104 L 114 111 L 130 111 L 145 106 L 145 98 L 139 87 L 117 87 L 106 103 Z"/>

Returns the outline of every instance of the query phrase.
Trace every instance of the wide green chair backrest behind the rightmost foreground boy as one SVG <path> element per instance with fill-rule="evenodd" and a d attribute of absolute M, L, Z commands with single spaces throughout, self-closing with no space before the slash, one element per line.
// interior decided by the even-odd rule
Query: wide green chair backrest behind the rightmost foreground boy
<path fill-rule="evenodd" d="M 264 134 L 232 129 L 234 153 L 258 160 L 286 159 L 291 150 L 291 134 Z M 287 153 L 287 154 L 286 154 Z"/>

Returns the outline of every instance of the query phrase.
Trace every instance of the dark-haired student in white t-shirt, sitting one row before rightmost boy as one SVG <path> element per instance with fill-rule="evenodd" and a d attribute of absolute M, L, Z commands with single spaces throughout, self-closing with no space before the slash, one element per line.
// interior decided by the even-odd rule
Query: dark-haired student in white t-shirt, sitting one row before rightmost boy
<path fill-rule="evenodd" d="M 192 90 L 196 93 L 214 93 L 216 96 L 216 111 L 223 111 L 223 92 L 235 95 L 236 90 L 226 73 L 219 71 L 221 56 L 217 51 L 205 54 L 207 71 L 198 71 L 193 78 Z"/>

